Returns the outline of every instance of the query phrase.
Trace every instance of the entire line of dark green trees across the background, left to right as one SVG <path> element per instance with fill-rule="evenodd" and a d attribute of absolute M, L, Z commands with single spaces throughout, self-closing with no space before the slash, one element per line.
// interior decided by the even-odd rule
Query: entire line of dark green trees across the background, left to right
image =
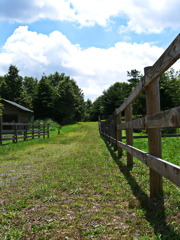
<path fill-rule="evenodd" d="M 82 90 L 76 82 L 64 73 L 55 72 L 40 81 L 33 77 L 22 77 L 11 65 L 8 73 L 0 77 L 0 96 L 19 103 L 34 111 L 34 118 L 51 118 L 60 124 L 78 121 L 97 121 L 98 116 L 107 118 L 134 90 L 142 75 L 137 70 L 127 72 L 127 82 L 116 82 L 93 103 L 84 101 Z M 180 105 L 180 72 L 173 69 L 159 79 L 161 109 Z M 133 115 L 146 113 L 146 96 L 143 92 L 133 103 Z"/>

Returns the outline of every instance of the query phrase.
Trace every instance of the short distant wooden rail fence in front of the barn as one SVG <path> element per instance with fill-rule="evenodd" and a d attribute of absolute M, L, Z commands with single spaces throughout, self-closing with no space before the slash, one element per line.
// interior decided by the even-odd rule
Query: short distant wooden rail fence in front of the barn
<path fill-rule="evenodd" d="M 6 123 L 0 118 L 0 145 L 18 143 L 35 138 L 49 138 L 49 124 Z"/>

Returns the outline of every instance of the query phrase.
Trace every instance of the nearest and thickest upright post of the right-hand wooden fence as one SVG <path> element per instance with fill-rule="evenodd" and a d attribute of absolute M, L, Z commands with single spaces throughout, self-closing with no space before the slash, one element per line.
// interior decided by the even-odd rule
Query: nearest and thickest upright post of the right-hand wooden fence
<path fill-rule="evenodd" d="M 144 68 L 145 78 L 151 67 Z M 146 89 L 146 108 L 147 116 L 160 112 L 160 93 L 159 80 L 156 79 Z M 161 129 L 148 129 L 148 146 L 149 153 L 156 157 L 162 158 L 161 150 Z M 161 194 L 162 190 L 162 176 L 150 168 L 150 196 Z"/>

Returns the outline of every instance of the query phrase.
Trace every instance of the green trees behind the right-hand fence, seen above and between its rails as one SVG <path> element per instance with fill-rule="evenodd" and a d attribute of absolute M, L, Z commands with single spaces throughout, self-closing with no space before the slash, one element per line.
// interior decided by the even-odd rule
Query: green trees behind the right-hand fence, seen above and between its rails
<path fill-rule="evenodd" d="M 142 75 L 137 70 L 127 72 L 128 81 L 116 82 L 103 92 L 92 104 L 91 120 L 97 120 L 98 116 L 106 119 L 113 114 L 115 108 L 121 106 L 124 99 L 134 90 Z M 161 110 L 180 106 L 180 72 L 170 69 L 159 78 Z M 146 114 L 145 92 L 133 102 L 132 111 L 134 116 Z"/>

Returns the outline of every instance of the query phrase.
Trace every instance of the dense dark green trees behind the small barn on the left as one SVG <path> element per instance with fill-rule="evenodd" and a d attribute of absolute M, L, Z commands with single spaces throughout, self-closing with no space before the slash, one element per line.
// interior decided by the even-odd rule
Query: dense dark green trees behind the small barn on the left
<path fill-rule="evenodd" d="M 85 102 L 82 90 L 64 73 L 45 74 L 36 78 L 24 78 L 11 65 L 8 74 L 0 77 L 0 96 L 34 111 L 34 118 L 54 119 L 60 124 L 84 119 Z"/>

